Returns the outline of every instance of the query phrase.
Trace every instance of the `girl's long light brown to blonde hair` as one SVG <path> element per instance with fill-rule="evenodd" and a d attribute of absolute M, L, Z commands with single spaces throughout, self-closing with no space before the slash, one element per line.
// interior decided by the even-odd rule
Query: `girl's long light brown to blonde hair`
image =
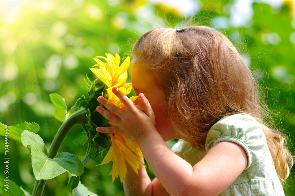
<path fill-rule="evenodd" d="M 186 141 L 204 150 L 209 129 L 225 115 L 247 113 L 265 133 L 276 172 L 285 183 L 293 166 L 283 130 L 276 127 L 250 69 L 231 41 L 206 26 L 158 28 L 132 48 L 132 63 L 167 94 L 168 120 Z M 197 117 L 197 118 L 196 118 Z"/>

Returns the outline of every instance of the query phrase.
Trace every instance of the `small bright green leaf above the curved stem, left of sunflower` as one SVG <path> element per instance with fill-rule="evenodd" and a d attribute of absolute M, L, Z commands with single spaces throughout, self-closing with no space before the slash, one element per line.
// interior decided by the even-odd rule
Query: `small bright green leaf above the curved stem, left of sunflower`
<path fill-rule="evenodd" d="M 54 117 L 60 122 L 64 122 L 67 114 L 67 105 L 65 104 L 65 100 L 57 93 L 51 93 L 49 95 L 51 102 L 55 105 L 55 109 L 53 112 Z"/>

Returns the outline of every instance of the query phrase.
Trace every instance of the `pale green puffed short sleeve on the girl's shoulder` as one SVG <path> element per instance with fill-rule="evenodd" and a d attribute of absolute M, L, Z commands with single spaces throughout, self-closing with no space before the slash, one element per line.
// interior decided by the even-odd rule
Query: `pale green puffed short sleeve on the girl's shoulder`
<path fill-rule="evenodd" d="M 227 115 L 216 122 L 208 132 L 206 152 L 220 141 L 231 141 L 244 148 L 248 155 L 245 170 L 255 169 L 267 148 L 266 137 L 259 122 L 249 114 Z"/>

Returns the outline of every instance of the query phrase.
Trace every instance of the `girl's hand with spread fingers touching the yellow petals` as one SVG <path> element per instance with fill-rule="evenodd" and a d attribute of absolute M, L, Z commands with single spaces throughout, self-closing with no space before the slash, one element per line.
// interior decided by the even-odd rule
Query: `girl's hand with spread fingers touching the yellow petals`
<path fill-rule="evenodd" d="M 124 104 L 125 109 L 116 106 L 102 96 L 98 97 L 97 101 L 103 104 L 111 112 L 114 112 L 117 116 L 106 111 L 101 106 L 96 108 L 97 112 L 118 126 L 98 127 L 96 128 L 96 131 L 102 133 L 119 133 L 131 140 L 137 141 L 140 138 L 144 138 L 144 135 L 156 130 L 153 109 L 150 106 L 148 99 L 142 93 L 139 94 L 139 102 L 140 106 L 145 109 L 144 112 L 140 111 L 117 87 L 114 87 L 112 92 L 114 92 Z M 141 96 L 143 98 L 141 98 Z"/>

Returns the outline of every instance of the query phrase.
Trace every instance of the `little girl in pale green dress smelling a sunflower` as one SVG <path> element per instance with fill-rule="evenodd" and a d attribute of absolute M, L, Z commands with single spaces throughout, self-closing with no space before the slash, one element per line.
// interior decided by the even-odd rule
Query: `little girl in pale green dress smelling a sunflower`
<path fill-rule="evenodd" d="M 103 97 L 117 116 L 97 107 L 118 125 L 97 130 L 136 141 L 156 176 L 126 164 L 125 195 L 284 195 L 293 156 L 227 37 L 205 26 L 159 28 L 132 53 L 131 82 L 144 112 L 117 88 L 125 109 Z M 180 140 L 171 150 L 165 141 L 172 139 Z"/>

